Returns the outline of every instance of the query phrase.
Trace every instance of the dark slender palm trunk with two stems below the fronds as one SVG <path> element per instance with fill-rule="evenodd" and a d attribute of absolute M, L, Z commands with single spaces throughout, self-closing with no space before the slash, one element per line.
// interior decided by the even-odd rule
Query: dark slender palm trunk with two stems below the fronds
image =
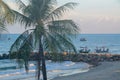
<path fill-rule="evenodd" d="M 43 80 L 47 80 L 45 56 L 44 56 L 44 52 L 43 52 L 43 46 L 42 46 L 42 43 L 41 43 L 41 38 L 42 38 L 42 37 L 39 38 L 38 80 L 40 79 L 41 62 L 42 62 L 42 75 L 43 75 Z"/>

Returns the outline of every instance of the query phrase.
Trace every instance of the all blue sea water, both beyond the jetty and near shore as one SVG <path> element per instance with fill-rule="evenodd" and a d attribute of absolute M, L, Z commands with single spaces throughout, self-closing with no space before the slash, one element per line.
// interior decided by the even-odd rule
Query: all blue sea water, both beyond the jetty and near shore
<path fill-rule="evenodd" d="M 19 34 L 3 34 L 0 35 L 0 54 L 9 53 L 10 46 L 14 43 Z M 85 38 L 86 41 L 80 41 Z M 91 52 L 96 47 L 107 47 L 111 54 L 120 54 L 120 34 L 79 34 L 75 39 L 72 38 L 73 44 L 77 50 L 80 47 L 87 46 Z M 46 61 L 48 79 L 57 76 L 66 76 L 76 73 L 82 73 L 89 70 L 86 63 L 75 63 L 65 61 L 62 63 L 53 63 Z M 0 80 L 35 80 L 35 62 L 30 62 L 30 73 L 26 74 L 24 68 L 16 68 L 17 63 L 14 60 L 0 60 Z"/>

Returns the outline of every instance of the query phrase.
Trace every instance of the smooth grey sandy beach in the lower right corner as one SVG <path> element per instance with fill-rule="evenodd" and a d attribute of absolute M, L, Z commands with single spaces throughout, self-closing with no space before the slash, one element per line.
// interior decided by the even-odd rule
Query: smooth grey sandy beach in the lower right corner
<path fill-rule="evenodd" d="M 52 80 L 120 80 L 120 62 L 101 62 L 88 72 L 56 77 Z"/>

